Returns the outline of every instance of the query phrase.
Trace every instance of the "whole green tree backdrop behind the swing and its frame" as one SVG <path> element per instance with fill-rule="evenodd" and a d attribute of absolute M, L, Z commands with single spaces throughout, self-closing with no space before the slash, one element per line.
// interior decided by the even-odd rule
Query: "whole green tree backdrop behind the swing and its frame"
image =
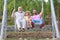
<path fill-rule="evenodd" d="M 38 13 L 41 11 L 41 8 L 42 8 L 41 7 L 42 0 L 15 0 L 15 3 L 14 3 L 14 0 L 8 0 L 7 2 L 8 2 L 7 3 L 7 15 L 8 15 L 7 26 L 14 25 L 14 19 L 11 18 L 11 13 L 12 13 L 12 10 L 14 9 L 14 6 L 16 11 L 19 6 L 22 6 L 24 11 L 27 11 L 27 10 L 31 11 L 31 15 L 32 15 L 33 8 L 36 8 Z M 58 25 L 60 25 L 60 0 L 53 0 L 53 2 L 54 2 L 57 22 L 58 22 Z M 0 0 L 0 23 L 2 22 L 3 6 L 4 6 L 4 1 Z M 43 19 L 44 19 L 45 25 L 51 25 L 50 0 L 48 0 L 48 2 L 44 1 Z"/>

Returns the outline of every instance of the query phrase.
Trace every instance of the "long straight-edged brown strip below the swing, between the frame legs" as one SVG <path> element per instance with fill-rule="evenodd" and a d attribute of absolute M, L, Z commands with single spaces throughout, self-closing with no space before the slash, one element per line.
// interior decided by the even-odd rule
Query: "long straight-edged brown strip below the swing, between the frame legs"
<path fill-rule="evenodd" d="M 8 32 L 7 38 L 52 38 L 52 32 Z"/>

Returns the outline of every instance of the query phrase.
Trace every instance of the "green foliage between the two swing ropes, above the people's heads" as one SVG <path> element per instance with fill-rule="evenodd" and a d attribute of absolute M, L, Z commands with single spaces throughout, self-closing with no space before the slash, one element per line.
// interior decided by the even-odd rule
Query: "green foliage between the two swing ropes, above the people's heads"
<path fill-rule="evenodd" d="M 20 3 L 20 4 L 19 4 Z M 23 7 L 23 10 L 24 11 L 31 11 L 32 12 L 32 9 L 33 8 L 36 8 L 37 10 L 39 10 L 38 12 L 40 12 L 41 10 L 41 1 L 34 1 L 34 0 L 19 0 L 15 2 L 15 7 L 16 9 L 19 7 L 19 6 L 22 6 Z"/>

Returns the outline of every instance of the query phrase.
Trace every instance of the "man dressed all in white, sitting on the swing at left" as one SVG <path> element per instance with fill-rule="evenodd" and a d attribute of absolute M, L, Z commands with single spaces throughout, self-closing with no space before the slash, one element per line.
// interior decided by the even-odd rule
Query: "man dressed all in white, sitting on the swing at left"
<path fill-rule="evenodd" d="M 22 7 L 18 7 L 17 12 L 15 12 L 15 9 L 12 12 L 12 17 L 15 18 L 18 30 L 21 29 L 21 24 L 22 24 L 22 31 L 25 31 L 25 27 L 26 27 L 26 21 L 24 19 L 24 14 L 25 12 L 22 10 Z"/>

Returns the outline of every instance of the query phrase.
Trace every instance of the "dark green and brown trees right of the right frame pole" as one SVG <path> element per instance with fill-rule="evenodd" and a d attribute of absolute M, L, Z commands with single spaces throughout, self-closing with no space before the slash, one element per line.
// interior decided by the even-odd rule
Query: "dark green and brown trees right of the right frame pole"
<path fill-rule="evenodd" d="M 57 20 L 58 20 L 58 26 L 59 26 L 59 31 L 60 31 L 60 0 L 54 0 L 54 6 L 55 6 L 55 11 L 57 15 Z"/>

